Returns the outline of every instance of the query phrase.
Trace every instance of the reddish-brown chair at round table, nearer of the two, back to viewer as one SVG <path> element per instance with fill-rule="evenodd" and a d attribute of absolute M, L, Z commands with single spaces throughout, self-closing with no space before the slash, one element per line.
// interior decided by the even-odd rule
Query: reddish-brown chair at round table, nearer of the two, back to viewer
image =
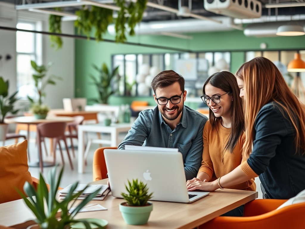
<path fill-rule="evenodd" d="M 65 143 L 65 146 L 66 146 L 66 151 L 68 154 L 70 166 L 71 166 L 71 169 L 73 170 L 73 164 L 72 164 L 72 161 L 70 158 L 70 153 L 69 153 L 69 149 L 68 149 L 67 142 L 66 142 L 66 136 L 65 136 L 66 125 L 67 124 L 65 122 L 45 122 L 45 123 L 40 123 L 37 125 L 37 143 L 38 143 L 39 162 L 40 162 L 41 172 L 43 170 L 41 142 L 44 142 L 45 137 L 55 139 L 54 152 L 53 152 L 54 163 L 56 161 L 56 144 L 57 143 L 59 145 L 62 162 L 63 162 L 63 164 L 65 163 L 64 159 L 63 159 L 63 151 L 62 151 L 60 143 L 59 143 L 59 140 L 63 140 L 63 142 Z"/>

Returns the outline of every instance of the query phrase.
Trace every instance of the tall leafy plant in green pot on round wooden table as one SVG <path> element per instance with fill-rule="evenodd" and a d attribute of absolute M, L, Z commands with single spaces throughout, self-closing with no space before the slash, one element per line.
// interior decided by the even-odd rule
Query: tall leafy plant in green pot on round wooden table
<path fill-rule="evenodd" d="M 27 98 L 28 100 L 30 100 L 31 111 L 35 118 L 44 119 L 47 116 L 48 111 L 50 110 L 48 106 L 42 105 L 43 99 L 45 97 L 45 87 L 48 84 L 56 85 L 55 80 L 61 80 L 62 78 L 56 75 L 50 75 L 48 78 L 45 78 L 52 63 L 49 63 L 47 66 L 38 66 L 35 61 L 31 60 L 31 65 L 35 70 L 35 74 L 33 74 L 33 79 L 35 82 L 36 92 L 38 94 L 38 102 L 35 103 L 34 98 L 31 98 L 30 96 L 27 96 Z"/>

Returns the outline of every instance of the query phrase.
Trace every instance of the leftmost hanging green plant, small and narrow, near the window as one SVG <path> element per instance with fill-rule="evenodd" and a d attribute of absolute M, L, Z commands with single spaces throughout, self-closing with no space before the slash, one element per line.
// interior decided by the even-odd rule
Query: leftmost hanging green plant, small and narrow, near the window
<path fill-rule="evenodd" d="M 54 8 L 56 11 L 63 11 L 61 8 Z M 61 33 L 61 18 L 62 16 L 52 15 L 49 16 L 49 32 L 50 33 Z M 61 49 L 63 46 L 63 40 L 59 36 L 50 35 L 51 47 Z"/>

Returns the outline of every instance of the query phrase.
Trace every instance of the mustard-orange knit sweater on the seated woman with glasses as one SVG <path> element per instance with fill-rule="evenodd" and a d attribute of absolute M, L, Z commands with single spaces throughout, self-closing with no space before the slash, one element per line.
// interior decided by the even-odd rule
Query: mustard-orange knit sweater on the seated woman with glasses
<path fill-rule="evenodd" d="M 230 173 L 242 162 L 247 160 L 247 158 L 242 158 L 242 146 L 245 141 L 244 134 L 240 136 L 233 153 L 230 153 L 228 150 L 223 151 L 230 133 L 231 128 L 225 128 L 221 124 L 217 125 L 216 129 L 212 130 L 210 120 L 206 122 L 203 128 L 203 153 L 201 167 L 198 173 L 207 173 L 210 177 L 210 181 L 216 180 L 218 177 Z M 226 188 L 256 191 L 254 178 L 244 183 Z"/>

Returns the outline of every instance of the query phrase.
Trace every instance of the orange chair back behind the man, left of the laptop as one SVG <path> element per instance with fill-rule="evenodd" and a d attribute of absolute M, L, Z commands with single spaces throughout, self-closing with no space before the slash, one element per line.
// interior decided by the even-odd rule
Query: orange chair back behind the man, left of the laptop
<path fill-rule="evenodd" d="M 105 149 L 117 149 L 117 147 L 102 147 L 95 150 L 93 155 L 93 181 L 107 178 L 107 167 L 104 157 Z"/>

